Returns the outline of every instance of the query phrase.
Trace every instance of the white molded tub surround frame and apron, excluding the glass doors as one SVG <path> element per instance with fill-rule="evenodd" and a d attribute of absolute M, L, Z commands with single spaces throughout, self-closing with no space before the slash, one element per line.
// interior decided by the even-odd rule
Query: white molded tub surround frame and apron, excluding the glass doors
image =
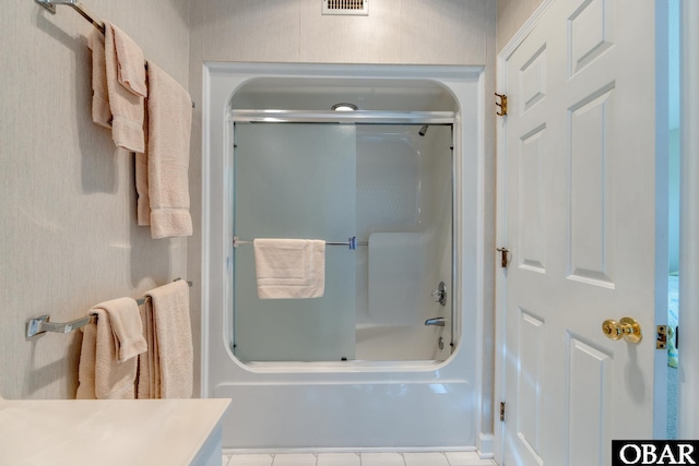
<path fill-rule="evenodd" d="M 204 65 L 201 396 L 233 398 L 233 407 L 223 420 L 225 449 L 265 452 L 477 449 L 486 457 L 491 454 L 491 432 L 483 432 L 483 426 L 489 426 L 490 421 L 482 419 L 481 409 L 482 404 L 493 402 L 490 394 L 482 390 L 479 331 L 484 320 L 483 70 L 483 67 L 440 65 Z M 427 119 L 437 123 L 443 117 L 442 123 L 453 124 L 457 215 L 452 321 L 458 345 L 446 361 L 244 363 L 233 355 L 229 220 L 236 116 L 230 100 L 245 83 L 264 76 L 386 80 L 388 84 L 430 81 L 453 95 L 459 106 L 455 115 L 433 113 L 431 120 Z M 305 113 L 304 118 L 308 118 Z M 392 112 L 384 117 L 400 117 L 389 113 Z M 419 122 L 427 117 L 401 115 Z M 293 112 L 286 117 L 293 118 Z"/>

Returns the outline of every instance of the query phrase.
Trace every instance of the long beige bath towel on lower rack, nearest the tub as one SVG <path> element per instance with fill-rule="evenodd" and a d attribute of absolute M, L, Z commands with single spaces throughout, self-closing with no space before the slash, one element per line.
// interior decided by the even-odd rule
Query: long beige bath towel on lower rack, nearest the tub
<path fill-rule="evenodd" d="M 194 362 L 189 285 L 177 280 L 146 295 L 150 301 L 143 313 L 149 351 L 147 358 L 140 359 L 139 397 L 191 398 Z"/>

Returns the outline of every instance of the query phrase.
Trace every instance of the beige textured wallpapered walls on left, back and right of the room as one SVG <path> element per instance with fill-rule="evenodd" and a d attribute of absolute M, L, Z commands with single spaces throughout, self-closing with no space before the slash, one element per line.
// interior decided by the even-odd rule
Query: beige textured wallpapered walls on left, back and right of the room
<path fill-rule="evenodd" d="M 540 2 L 498 0 L 497 48 L 491 0 L 382 0 L 371 3 L 366 17 L 321 16 L 320 2 L 310 0 L 91 0 L 86 5 L 130 34 L 180 83 L 189 82 L 193 100 L 201 103 L 204 61 L 486 64 L 489 95 L 496 50 Z M 102 300 L 139 297 L 181 276 L 194 280 L 199 347 L 201 106 L 194 111 L 190 164 L 194 236 L 152 240 L 133 223 L 132 157 L 90 119 L 92 26 L 70 8 L 51 15 L 31 0 L 5 4 L 0 26 L 0 394 L 72 397 L 80 335 L 26 342 L 27 318 L 50 313 L 68 321 Z M 485 130 L 489 251 L 495 247 L 491 119 Z M 493 271 L 486 254 L 486 316 L 493 310 Z M 490 383 L 486 378 L 484 384 Z"/>

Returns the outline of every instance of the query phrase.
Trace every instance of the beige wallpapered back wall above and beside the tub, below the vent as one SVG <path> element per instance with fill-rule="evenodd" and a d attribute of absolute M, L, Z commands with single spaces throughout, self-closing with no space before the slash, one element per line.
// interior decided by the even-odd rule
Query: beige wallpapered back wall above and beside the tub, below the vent
<path fill-rule="evenodd" d="M 190 88 L 200 101 L 206 61 L 292 63 L 485 64 L 485 96 L 494 92 L 496 2 L 493 0 L 381 0 L 368 16 L 322 16 L 320 0 L 192 1 Z M 196 8 L 194 8 L 196 7 Z M 201 202 L 201 107 L 196 110 L 190 179 Z M 485 119 L 485 249 L 495 250 L 495 113 Z M 192 218 L 199 225 L 201 217 Z M 189 277 L 200 282 L 201 234 L 189 242 Z M 485 365 L 493 363 L 494 265 L 484 252 Z M 192 302 L 200 302 L 194 287 Z M 216 310 L 217 311 L 217 310 Z M 484 392 L 491 393 L 486 373 Z M 489 399 L 489 397 L 488 397 Z M 491 407 L 484 404 L 485 429 Z"/>

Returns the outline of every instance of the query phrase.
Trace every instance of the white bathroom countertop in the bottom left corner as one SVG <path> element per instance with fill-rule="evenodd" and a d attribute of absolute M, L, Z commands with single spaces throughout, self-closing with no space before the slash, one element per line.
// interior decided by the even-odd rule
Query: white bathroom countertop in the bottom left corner
<path fill-rule="evenodd" d="M 230 399 L 0 399 L 0 465 L 189 465 Z"/>

